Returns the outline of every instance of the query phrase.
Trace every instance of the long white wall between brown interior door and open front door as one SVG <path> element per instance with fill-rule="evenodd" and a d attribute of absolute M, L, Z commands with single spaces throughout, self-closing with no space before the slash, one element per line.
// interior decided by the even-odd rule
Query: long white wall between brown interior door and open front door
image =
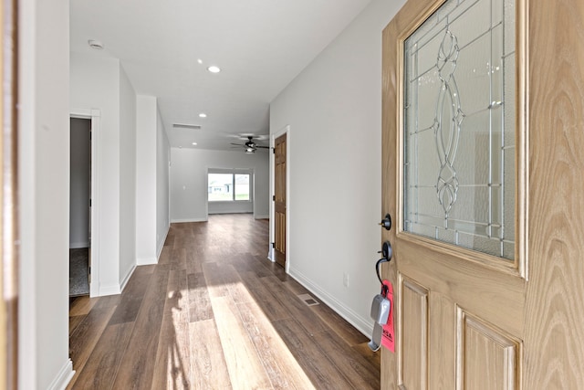
<path fill-rule="evenodd" d="M 372 1 L 270 106 L 270 132 L 290 125 L 289 273 L 366 334 L 380 291 L 381 30 L 402 4 Z"/>

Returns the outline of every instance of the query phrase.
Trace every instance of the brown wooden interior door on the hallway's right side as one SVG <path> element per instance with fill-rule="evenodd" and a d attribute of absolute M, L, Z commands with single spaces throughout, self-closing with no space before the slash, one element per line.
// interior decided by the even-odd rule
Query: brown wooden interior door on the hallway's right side
<path fill-rule="evenodd" d="M 274 254 L 276 263 L 286 268 L 286 133 L 276 138 L 274 147 Z"/>

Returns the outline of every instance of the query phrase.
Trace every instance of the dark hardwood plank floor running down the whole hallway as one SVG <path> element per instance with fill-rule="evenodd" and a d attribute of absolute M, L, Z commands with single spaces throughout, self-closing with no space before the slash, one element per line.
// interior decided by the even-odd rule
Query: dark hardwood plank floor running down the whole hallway
<path fill-rule="evenodd" d="M 71 389 L 379 389 L 368 339 L 266 259 L 250 215 L 172 224 L 159 264 L 69 311 Z"/>

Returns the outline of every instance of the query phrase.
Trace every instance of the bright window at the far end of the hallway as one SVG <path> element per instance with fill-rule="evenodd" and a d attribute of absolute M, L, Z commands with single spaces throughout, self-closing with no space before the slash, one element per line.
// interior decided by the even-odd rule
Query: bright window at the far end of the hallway
<path fill-rule="evenodd" d="M 251 200 L 251 174 L 225 174 L 209 172 L 209 202 L 233 202 Z"/>

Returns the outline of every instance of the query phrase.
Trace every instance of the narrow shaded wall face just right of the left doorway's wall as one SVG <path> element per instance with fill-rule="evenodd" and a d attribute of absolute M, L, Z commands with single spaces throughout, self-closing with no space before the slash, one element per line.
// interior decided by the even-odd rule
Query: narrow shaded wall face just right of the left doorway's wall
<path fill-rule="evenodd" d="M 120 65 L 120 290 L 136 266 L 136 92 Z"/>

